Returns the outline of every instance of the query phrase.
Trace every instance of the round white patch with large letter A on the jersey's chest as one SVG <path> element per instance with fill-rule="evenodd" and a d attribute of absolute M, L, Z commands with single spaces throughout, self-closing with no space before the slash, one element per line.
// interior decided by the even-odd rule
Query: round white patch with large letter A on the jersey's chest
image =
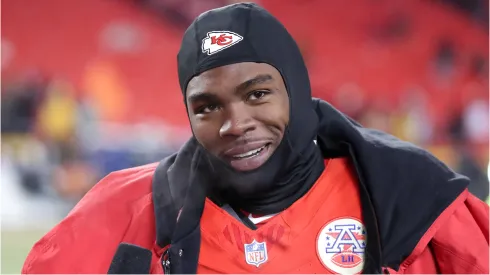
<path fill-rule="evenodd" d="M 317 237 L 322 264 L 336 274 L 357 274 L 364 267 L 366 229 L 355 218 L 343 217 L 327 223 Z"/>

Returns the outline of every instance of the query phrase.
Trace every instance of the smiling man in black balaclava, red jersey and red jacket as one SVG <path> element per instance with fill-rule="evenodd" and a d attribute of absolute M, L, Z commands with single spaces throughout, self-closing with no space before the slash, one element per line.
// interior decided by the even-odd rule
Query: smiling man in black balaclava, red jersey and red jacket
<path fill-rule="evenodd" d="M 312 100 L 264 9 L 202 14 L 178 65 L 193 138 L 99 182 L 23 273 L 136 272 L 145 255 L 151 273 L 488 273 L 488 206 L 468 179 Z"/>

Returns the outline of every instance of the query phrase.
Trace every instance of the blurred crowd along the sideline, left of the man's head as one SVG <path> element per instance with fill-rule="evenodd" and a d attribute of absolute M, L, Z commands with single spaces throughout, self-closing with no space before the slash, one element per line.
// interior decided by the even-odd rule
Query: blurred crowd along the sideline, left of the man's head
<path fill-rule="evenodd" d="M 5 80 L 4 80 L 5 81 Z M 2 86 L 2 161 L 34 196 L 78 201 L 108 173 L 164 158 L 165 125 L 100 121 L 69 81 L 29 71 Z"/>

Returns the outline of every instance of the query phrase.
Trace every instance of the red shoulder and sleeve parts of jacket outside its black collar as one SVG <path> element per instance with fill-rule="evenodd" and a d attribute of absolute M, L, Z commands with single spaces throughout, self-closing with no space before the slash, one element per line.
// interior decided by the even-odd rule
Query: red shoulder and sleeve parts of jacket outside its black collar
<path fill-rule="evenodd" d="M 27 273 L 107 273 L 121 242 L 150 249 L 152 273 L 163 273 L 155 242 L 152 175 L 157 164 L 111 173 L 29 253 Z M 489 207 L 464 191 L 425 232 L 398 271 L 489 273 Z"/>

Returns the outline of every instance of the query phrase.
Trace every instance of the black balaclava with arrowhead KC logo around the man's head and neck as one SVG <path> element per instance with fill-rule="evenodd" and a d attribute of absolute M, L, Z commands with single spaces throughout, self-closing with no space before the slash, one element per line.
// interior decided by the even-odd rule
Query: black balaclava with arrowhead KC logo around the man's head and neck
<path fill-rule="evenodd" d="M 318 118 L 308 72 L 291 35 L 256 4 L 233 4 L 205 12 L 184 34 L 178 54 L 180 87 L 185 98 L 194 76 L 240 62 L 267 63 L 281 73 L 290 106 L 284 137 L 263 166 L 248 172 L 234 170 L 199 146 L 206 168 L 191 173 L 199 174 L 208 197 L 218 204 L 256 214 L 277 213 L 303 196 L 324 169 L 322 154 L 314 143 Z"/>

